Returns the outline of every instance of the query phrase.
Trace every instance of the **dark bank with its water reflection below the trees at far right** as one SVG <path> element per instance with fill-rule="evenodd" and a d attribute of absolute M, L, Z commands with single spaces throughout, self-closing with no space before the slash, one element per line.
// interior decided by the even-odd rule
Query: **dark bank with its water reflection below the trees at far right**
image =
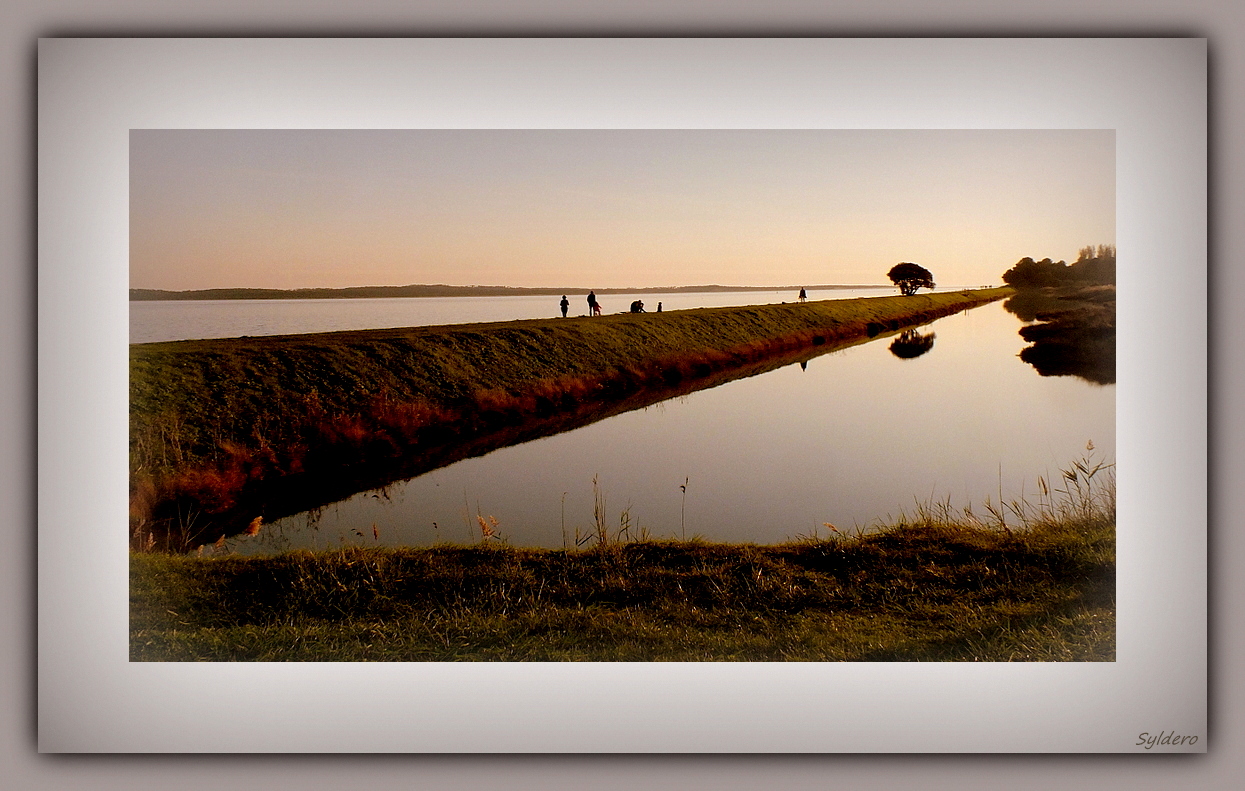
<path fill-rule="evenodd" d="M 1025 289 L 1003 303 L 1023 321 L 1020 359 L 1042 376 L 1116 384 L 1116 288 Z"/>

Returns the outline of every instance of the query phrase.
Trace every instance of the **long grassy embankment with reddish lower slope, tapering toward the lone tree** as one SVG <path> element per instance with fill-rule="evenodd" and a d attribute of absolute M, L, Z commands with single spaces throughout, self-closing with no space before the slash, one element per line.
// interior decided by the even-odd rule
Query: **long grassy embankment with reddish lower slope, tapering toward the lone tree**
<path fill-rule="evenodd" d="M 220 529 L 209 517 L 242 529 L 298 493 L 380 486 L 386 468 L 397 480 L 411 460 L 533 421 L 557 430 L 594 405 L 696 389 L 1011 293 L 136 344 L 133 542 L 193 548 Z"/>

